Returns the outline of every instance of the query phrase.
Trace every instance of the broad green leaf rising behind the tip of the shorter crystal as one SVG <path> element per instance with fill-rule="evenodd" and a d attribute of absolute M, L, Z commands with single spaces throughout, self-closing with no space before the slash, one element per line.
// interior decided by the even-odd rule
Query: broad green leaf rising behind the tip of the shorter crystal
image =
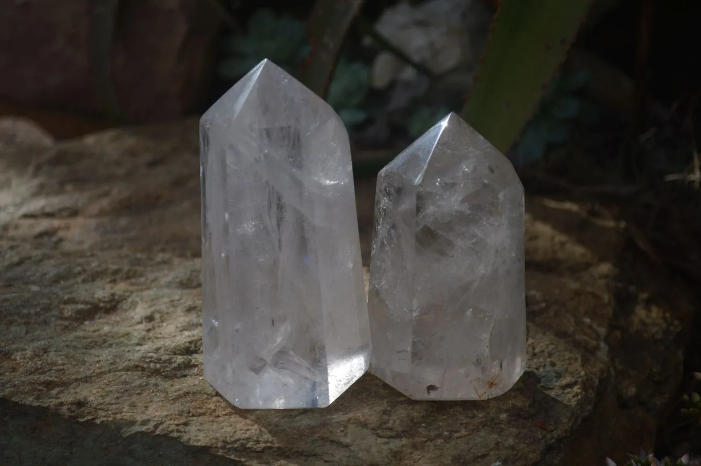
<path fill-rule="evenodd" d="M 532 118 L 592 0 L 501 0 L 461 115 L 507 152 Z"/>

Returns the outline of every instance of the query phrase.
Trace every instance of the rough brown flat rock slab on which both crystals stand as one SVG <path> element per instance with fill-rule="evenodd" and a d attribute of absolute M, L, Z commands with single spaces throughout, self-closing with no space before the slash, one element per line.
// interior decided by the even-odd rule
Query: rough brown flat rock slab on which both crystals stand
<path fill-rule="evenodd" d="M 593 465 L 651 446 L 692 298 L 564 200 L 526 198 L 528 362 L 504 395 L 413 402 L 367 374 L 325 409 L 226 402 L 203 376 L 197 132 L 54 144 L 0 124 L 0 464 Z M 356 184 L 361 225 L 374 186 Z"/>

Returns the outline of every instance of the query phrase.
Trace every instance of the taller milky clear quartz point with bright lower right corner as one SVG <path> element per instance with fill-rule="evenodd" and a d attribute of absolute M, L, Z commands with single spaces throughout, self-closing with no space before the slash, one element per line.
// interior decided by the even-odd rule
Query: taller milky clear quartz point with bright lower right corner
<path fill-rule="evenodd" d="M 320 408 L 369 366 L 348 133 L 268 60 L 200 121 L 205 378 L 240 408 Z"/>

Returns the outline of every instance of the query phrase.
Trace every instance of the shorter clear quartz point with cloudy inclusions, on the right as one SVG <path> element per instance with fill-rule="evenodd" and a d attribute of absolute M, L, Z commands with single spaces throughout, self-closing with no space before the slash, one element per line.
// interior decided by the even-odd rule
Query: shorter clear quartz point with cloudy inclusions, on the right
<path fill-rule="evenodd" d="M 449 114 L 377 179 L 373 374 L 412 399 L 487 399 L 524 372 L 524 191 Z"/>

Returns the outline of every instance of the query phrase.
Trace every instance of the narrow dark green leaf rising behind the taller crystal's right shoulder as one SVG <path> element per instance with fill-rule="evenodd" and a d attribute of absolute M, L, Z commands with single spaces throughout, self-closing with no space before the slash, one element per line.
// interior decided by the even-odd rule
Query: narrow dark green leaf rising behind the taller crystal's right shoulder
<path fill-rule="evenodd" d="M 326 97 L 337 57 L 363 0 L 317 0 L 306 25 L 311 52 L 299 69 L 299 81 Z"/>

